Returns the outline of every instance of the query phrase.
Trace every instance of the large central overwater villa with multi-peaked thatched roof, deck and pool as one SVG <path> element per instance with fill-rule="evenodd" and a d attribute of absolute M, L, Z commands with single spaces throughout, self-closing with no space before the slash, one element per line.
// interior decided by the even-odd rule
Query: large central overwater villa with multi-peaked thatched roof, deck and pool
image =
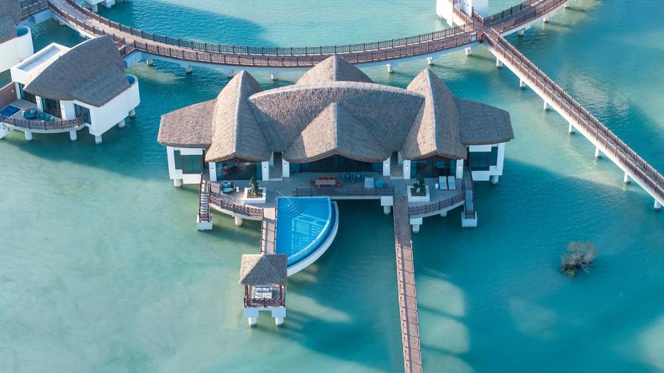
<path fill-rule="evenodd" d="M 415 233 L 460 206 L 476 226 L 474 181 L 498 182 L 512 138 L 508 112 L 454 98 L 429 70 L 400 89 L 338 56 L 267 91 L 242 71 L 159 127 L 174 185 L 200 184 L 197 228 L 212 229 L 210 208 L 262 221 L 261 252 L 286 254 L 288 275 L 332 243 L 334 199 L 377 199 L 386 214 L 403 199 Z"/>

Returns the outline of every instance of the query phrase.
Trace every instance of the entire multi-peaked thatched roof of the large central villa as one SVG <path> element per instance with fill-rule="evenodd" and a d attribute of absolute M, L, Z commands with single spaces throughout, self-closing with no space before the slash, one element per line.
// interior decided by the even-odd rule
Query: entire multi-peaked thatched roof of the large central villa
<path fill-rule="evenodd" d="M 282 152 L 286 161 L 305 163 L 333 154 L 378 162 L 393 152 L 413 160 L 459 159 L 465 145 L 513 138 L 505 111 L 456 100 L 431 71 L 400 89 L 370 82 L 337 56 L 296 84 L 268 91 L 243 71 L 214 104 L 199 109 L 210 112 L 180 109 L 163 116 L 159 142 L 209 146 L 206 161 L 267 161 L 271 152 Z M 200 129 L 206 125 L 212 129 Z"/>

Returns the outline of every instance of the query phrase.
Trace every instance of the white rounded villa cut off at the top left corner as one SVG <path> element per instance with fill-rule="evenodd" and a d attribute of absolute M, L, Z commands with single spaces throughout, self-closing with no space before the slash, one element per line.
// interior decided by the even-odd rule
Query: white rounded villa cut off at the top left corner
<path fill-rule="evenodd" d="M 19 21 L 19 0 L 0 0 L 0 73 L 33 54 L 33 35 Z"/>

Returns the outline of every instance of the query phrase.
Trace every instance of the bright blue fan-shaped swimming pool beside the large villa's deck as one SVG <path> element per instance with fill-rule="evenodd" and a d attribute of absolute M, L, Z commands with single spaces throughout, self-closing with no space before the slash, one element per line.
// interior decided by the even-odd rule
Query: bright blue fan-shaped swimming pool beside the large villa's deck
<path fill-rule="evenodd" d="M 276 253 L 288 255 L 289 266 L 313 253 L 327 236 L 332 210 L 327 197 L 279 198 Z"/>

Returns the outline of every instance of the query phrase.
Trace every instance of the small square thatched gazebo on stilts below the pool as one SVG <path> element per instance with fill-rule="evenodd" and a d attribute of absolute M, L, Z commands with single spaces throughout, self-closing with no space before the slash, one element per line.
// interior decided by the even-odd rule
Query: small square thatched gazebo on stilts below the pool
<path fill-rule="evenodd" d="M 285 254 L 245 254 L 240 264 L 244 285 L 244 317 L 256 325 L 258 311 L 271 311 L 276 325 L 286 317 L 287 261 Z"/>

